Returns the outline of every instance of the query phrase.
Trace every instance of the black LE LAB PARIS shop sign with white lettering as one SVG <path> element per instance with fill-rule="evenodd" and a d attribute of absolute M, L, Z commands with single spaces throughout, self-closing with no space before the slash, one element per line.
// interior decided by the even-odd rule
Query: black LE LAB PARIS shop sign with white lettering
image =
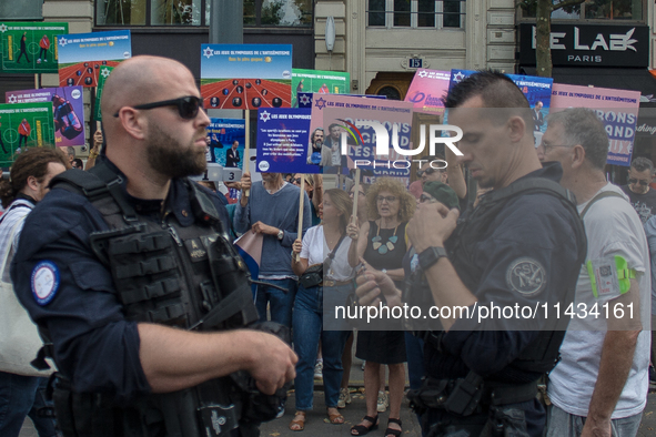
<path fill-rule="evenodd" d="M 519 38 L 519 63 L 535 65 L 535 24 L 521 24 Z M 551 47 L 558 67 L 648 67 L 649 27 L 552 24 Z"/>

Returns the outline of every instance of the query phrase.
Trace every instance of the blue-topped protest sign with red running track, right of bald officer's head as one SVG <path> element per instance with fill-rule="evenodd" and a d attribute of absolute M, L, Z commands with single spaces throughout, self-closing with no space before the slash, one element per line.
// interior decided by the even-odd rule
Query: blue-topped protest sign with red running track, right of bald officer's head
<path fill-rule="evenodd" d="M 291 44 L 201 44 L 206 109 L 290 108 Z"/>

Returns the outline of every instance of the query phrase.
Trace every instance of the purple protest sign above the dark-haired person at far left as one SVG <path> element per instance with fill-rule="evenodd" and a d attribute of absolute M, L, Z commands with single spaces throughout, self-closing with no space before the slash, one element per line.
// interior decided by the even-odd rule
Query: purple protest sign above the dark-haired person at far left
<path fill-rule="evenodd" d="M 84 145 L 82 87 L 8 91 L 4 94 L 4 101 L 7 103 L 51 103 L 54 120 L 54 144 L 60 148 Z"/>

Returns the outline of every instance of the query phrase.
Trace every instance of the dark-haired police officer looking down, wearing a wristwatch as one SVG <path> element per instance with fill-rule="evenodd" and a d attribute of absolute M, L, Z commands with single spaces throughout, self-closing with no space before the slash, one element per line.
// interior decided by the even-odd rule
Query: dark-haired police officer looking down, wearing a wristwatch
<path fill-rule="evenodd" d="M 571 193 L 557 185 L 562 167 L 543 169 L 537 159 L 528 103 L 507 77 L 471 75 L 450 91 L 446 108 L 463 130 L 461 163 L 493 191 L 460 221 L 456 210 L 422 204 L 408 224 L 432 303 L 452 309 L 424 335 L 426 377 L 408 397 L 428 436 L 542 436 L 537 380 L 555 365 L 566 326 L 551 309 L 573 299 L 585 234 Z M 359 283 L 361 304 L 381 293 L 401 304 L 385 275 L 366 273 Z M 477 318 L 493 305 L 504 315 L 516 305 L 549 311 Z"/>

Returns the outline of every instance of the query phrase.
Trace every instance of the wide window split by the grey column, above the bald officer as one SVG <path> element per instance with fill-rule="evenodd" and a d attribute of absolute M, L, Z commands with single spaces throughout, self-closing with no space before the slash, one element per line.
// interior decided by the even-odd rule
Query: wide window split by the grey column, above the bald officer
<path fill-rule="evenodd" d="M 209 26 L 211 0 L 98 0 L 97 26 Z M 204 13 L 202 13 L 204 11 Z M 312 0 L 244 0 L 246 27 L 312 27 Z"/>

